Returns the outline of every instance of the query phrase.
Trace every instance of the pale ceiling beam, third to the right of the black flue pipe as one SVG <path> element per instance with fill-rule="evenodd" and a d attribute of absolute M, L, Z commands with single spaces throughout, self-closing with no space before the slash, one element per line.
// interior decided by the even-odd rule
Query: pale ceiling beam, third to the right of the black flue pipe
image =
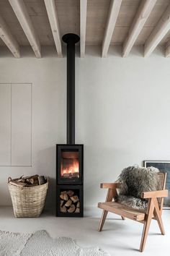
<path fill-rule="evenodd" d="M 141 1 L 138 11 L 135 14 L 133 23 L 130 27 L 128 37 L 126 38 L 125 43 L 123 44 L 123 50 L 122 50 L 123 57 L 127 57 L 128 54 L 130 53 L 135 43 L 135 40 L 138 38 L 138 35 L 140 34 L 140 31 L 143 29 L 143 26 L 145 25 L 146 20 L 148 20 L 148 17 L 151 14 L 151 11 L 155 6 L 155 4 L 156 4 L 156 0 Z"/>

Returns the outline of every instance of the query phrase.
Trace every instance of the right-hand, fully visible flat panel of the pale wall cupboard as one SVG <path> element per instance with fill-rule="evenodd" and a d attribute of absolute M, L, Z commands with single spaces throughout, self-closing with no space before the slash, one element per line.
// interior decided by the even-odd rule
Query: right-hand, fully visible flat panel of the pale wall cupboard
<path fill-rule="evenodd" d="M 31 166 L 32 85 L 12 84 L 12 166 Z"/>

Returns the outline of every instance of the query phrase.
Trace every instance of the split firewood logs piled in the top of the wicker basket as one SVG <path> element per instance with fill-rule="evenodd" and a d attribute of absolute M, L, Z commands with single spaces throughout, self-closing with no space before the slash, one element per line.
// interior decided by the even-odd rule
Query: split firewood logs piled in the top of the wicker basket
<path fill-rule="evenodd" d="M 45 184 L 47 180 L 45 179 L 45 176 L 40 175 L 32 175 L 32 176 L 26 176 L 23 175 L 19 179 L 9 179 L 9 183 L 18 186 L 18 187 L 32 187 L 32 186 L 38 186 Z"/>

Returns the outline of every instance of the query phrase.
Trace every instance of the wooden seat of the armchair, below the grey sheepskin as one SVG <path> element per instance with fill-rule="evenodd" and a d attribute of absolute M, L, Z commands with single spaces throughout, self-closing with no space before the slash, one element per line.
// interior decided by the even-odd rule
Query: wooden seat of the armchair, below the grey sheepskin
<path fill-rule="evenodd" d="M 116 213 L 125 218 L 130 218 L 133 221 L 144 221 L 146 216 L 146 212 L 144 210 L 130 208 L 126 205 L 120 204 L 119 202 L 99 202 L 98 208 Z"/>

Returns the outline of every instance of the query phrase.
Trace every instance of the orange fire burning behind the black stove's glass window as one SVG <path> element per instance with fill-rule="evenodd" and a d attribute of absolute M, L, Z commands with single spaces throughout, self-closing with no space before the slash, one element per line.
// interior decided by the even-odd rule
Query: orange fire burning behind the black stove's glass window
<path fill-rule="evenodd" d="M 79 152 L 63 151 L 61 153 L 61 177 L 79 178 Z"/>

